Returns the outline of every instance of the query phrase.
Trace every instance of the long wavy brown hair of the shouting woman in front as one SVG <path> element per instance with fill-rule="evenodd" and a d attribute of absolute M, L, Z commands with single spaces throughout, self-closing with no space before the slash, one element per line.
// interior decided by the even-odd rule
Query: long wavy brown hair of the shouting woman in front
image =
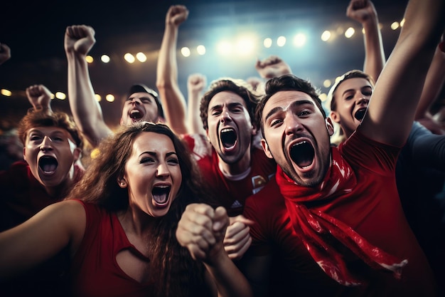
<path fill-rule="evenodd" d="M 122 127 L 117 134 L 102 140 L 99 155 L 87 167 L 85 175 L 72 189 L 66 199 L 81 199 L 100 205 L 108 212 L 119 212 L 129 207 L 127 189 L 117 183 L 117 177 L 124 174 L 124 167 L 132 153 L 137 135 L 155 132 L 168 136 L 178 155 L 182 183 L 176 199 L 168 213 L 154 219 L 151 228 L 151 283 L 153 296 L 208 296 L 204 282 L 204 267 L 191 258 L 188 250 L 178 244 L 176 227 L 186 206 L 194 202 L 213 204 L 213 195 L 203 183 L 191 152 L 170 128 L 163 124 L 148 122 Z M 204 292 L 204 291 L 205 292 Z"/>

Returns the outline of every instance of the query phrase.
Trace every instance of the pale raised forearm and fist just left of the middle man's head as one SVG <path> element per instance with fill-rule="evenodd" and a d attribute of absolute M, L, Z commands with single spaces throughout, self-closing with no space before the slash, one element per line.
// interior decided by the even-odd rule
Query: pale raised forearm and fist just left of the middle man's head
<path fill-rule="evenodd" d="M 193 73 L 188 75 L 187 80 L 187 126 L 191 134 L 205 134 L 203 122 L 200 118 L 200 98 L 207 83 L 205 75 Z"/>

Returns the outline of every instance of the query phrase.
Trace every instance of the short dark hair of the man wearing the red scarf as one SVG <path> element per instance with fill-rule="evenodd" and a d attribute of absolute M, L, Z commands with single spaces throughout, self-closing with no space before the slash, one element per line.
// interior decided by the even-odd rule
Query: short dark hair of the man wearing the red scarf
<path fill-rule="evenodd" d="M 279 76 L 278 78 L 271 78 L 267 80 L 266 85 L 264 86 L 264 96 L 261 98 L 257 105 L 257 110 L 255 112 L 255 118 L 257 119 L 257 123 L 261 127 L 262 135 L 264 135 L 264 126 L 262 123 L 262 112 L 264 110 L 264 105 L 266 105 L 267 100 L 269 100 L 272 95 L 283 91 L 283 90 L 299 90 L 300 92 L 306 93 L 313 101 L 315 101 L 318 109 L 323 114 L 323 117 L 326 118 L 326 112 L 323 109 L 323 105 L 321 104 L 320 92 L 316 89 L 309 80 L 304 80 L 302 78 L 298 78 L 293 74 L 285 74 Z"/>

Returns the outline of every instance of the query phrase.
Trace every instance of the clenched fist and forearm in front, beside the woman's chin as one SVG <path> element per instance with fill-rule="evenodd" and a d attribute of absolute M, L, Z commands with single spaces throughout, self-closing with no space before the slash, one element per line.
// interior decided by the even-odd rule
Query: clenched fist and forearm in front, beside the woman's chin
<path fill-rule="evenodd" d="M 176 237 L 202 261 L 218 289 L 218 296 L 252 296 L 245 276 L 224 251 L 223 239 L 229 217 L 223 207 L 213 210 L 207 204 L 190 204 L 178 223 Z"/>

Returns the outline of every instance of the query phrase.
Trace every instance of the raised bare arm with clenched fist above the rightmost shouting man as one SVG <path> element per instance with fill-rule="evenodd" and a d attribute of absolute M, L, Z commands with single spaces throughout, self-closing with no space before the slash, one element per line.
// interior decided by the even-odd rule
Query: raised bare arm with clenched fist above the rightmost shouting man
<path fill-rule="evenodd" d="M 351 0 L 346 9 L 346 16 L 358 21 L 365 30 L 365 63 L 363 72 L 371 75 L 374 80 L 382 72 L 385 65 L 382 34 L 380 33 L 377 11 L 369 0 Z"/>

